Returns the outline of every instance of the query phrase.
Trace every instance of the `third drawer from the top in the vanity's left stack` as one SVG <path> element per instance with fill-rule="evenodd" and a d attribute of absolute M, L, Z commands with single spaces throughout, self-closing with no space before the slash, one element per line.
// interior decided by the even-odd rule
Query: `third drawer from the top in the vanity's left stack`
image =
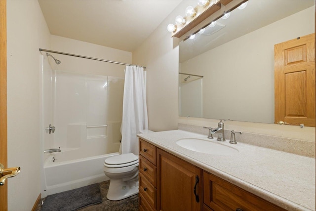
<path fill-rule="evenodd" d="M 157 189 L 142 173 L 139 173 L 139 194 L 143 196 L 151 207 L 156 209 Z"/>

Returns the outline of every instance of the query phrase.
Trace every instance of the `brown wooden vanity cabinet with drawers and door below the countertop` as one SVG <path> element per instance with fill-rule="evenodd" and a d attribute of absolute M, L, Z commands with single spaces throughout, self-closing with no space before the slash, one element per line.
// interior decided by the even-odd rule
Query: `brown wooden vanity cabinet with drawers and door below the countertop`
<path fill-rule="evenodd" d="M 139 210 L 285 211 L 141 138 Z"/>

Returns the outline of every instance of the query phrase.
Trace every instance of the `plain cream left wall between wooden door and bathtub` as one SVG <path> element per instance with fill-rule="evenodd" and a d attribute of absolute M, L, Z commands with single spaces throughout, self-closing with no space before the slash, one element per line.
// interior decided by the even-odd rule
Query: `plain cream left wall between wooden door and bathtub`
<path fill-rule="evenodd" d="M 40 51 L 50 34 L 37 0 L 7 1 L 8 210 L 30 211 L 40 194 Z"/>

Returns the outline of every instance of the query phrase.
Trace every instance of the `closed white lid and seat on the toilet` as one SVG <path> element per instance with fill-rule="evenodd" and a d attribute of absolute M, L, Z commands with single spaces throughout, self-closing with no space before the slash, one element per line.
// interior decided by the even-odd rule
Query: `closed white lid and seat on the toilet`
<path fill-rule="evenodd" d="M 107 168 L 122 168 L 138 164 L 138 156 L 133 153 L 121 154 L 105 159 L 104 166 Z"/>

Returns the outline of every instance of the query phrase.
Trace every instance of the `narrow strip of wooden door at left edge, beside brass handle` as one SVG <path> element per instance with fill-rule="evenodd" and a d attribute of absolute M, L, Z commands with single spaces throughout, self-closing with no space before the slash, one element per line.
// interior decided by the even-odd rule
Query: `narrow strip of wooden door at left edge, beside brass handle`
<path fill-rule="evenodd" d="M 7 168 L 6 1 L 0 0 L 0 163 Z M 7 183 L 0 186 L 0 211 L 7 211 Z"/>

